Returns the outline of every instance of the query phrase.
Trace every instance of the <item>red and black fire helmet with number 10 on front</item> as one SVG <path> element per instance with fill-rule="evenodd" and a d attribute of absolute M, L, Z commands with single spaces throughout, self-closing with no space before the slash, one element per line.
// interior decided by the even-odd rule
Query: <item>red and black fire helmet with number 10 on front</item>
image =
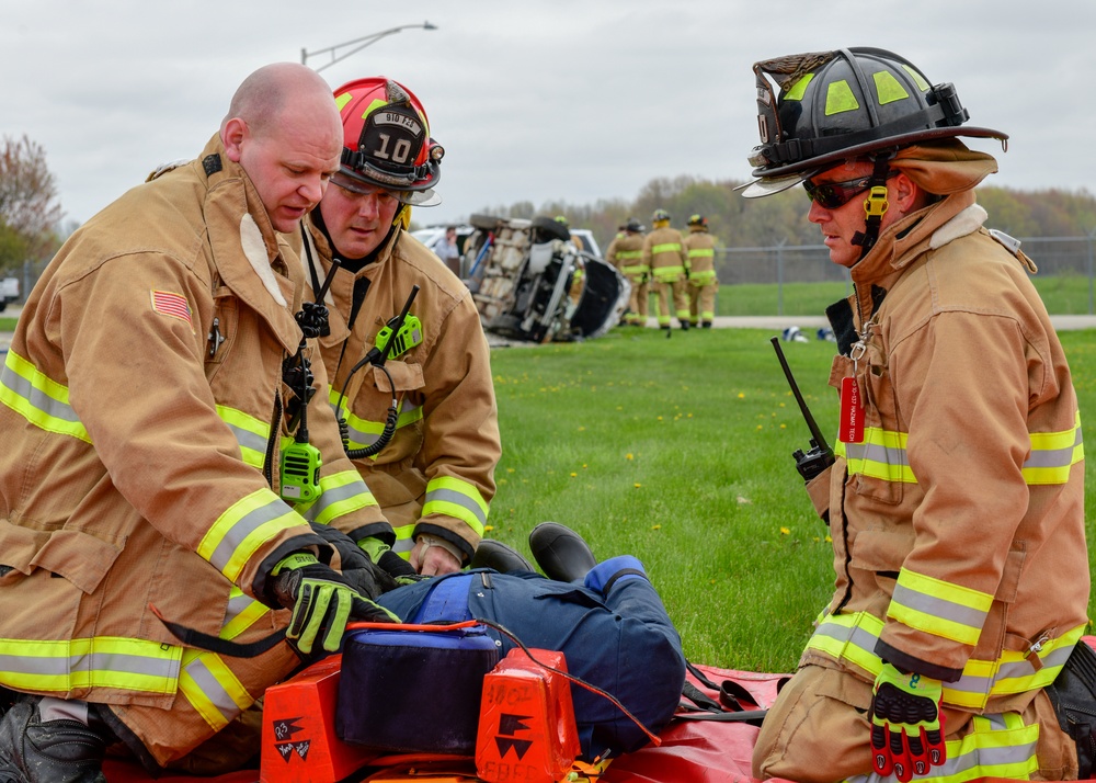
<path fill-rule="evenodd" d="M 444 150 L 430 137 L 419 99 L 391 79 L 358 79 L 335 90 L 343 121 L 343 182 L 384 188 L 406 204 L 431 206 L 441 198 Z M 343 185 L 345 186 L 345 185 Z"/>

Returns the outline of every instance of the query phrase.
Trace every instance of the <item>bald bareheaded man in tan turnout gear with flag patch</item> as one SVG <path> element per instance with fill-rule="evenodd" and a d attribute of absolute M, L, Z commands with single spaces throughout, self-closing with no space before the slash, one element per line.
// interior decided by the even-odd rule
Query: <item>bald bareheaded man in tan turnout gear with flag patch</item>
<path fill-rule="evenodd" d="M 0 719 L 0 779 L 101 781 L 117 739 L 155 773 L 299 666 L 282 632 L 307 654 L 350 616 L 390 620 L 309 526 L 388 530 L 324 406 L 318 497 L 281 491 L 302 279 L 279 234 L 341 139 L 315 71 L 261 68 L 198 159 L 92 217 L 31 293 L 0 375 L 0 685 L 25 694 Z M 274 643 L 226 657 L 160 616 Z"/>

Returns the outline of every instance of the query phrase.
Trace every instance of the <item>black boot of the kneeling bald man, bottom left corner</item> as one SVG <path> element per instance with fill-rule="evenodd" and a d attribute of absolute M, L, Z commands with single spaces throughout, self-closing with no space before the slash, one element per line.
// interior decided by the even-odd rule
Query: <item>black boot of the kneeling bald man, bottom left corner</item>
<path fill-rule="evenodd" d="M 38 700 L 24 699 L 0 719 L 0 781 L 106 783 L 106 739 L 79 720 L 45 720 Z"/>

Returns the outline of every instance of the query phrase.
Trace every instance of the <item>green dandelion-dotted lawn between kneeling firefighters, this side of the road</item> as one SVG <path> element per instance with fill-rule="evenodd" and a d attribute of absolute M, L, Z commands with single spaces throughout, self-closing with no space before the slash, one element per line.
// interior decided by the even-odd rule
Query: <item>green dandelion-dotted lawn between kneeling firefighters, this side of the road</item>
<path fill-rule="evenodd" d="M 833 565 L 795 469 L 791 452 L 809 434 L 770 337 L 715 329 L 666 339 L 626 327 L 585 343 L 494 349 L 503 455 L 489 535 L 528 555 L 538 522 L 570 525 L 598 556 L 643 560 L 690 660 L 794 669 Z M 1096 331 L 1062 341 L 1082 410 L 1093 410 Z M 833 432 L 833 343 L 781 347 Z"/>

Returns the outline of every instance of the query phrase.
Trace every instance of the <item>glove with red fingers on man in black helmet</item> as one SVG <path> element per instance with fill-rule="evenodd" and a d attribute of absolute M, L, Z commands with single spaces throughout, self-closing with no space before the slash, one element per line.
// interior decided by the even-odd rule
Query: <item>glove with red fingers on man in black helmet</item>
<path fill-rule="evenodd" d="M 900 781 L 927 775 L 947 761 L 939 680 L 899 671 L 890 663 L 876 678 L 871 691 L 871 765 L 881 776 L 894 773 Z"/>

